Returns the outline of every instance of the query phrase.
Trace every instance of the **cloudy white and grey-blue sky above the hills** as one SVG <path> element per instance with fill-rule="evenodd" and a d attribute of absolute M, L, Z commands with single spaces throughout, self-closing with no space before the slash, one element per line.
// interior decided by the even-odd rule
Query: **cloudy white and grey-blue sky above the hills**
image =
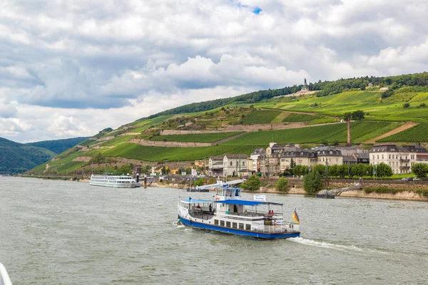
<path fill-rule="evenodd" d="M 426 0 L 1 0 L 0 137 L 91 136 L 187 103 L 427 71 Z"/>

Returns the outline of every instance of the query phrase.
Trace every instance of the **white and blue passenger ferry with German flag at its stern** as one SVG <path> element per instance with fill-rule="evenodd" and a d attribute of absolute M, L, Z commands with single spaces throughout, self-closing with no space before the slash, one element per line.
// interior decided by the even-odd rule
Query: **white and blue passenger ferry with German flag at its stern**
<path fill-rule="evenodd" d="M 215 200 L 182 199 L 178 219 L 188 227 L 226 234 L 260 239 L 300 237 L 298 220 L 284 222 L 283 204 L 240 199 L 240 192 L 240 188 L 221 187 L 215 190 Z"/>

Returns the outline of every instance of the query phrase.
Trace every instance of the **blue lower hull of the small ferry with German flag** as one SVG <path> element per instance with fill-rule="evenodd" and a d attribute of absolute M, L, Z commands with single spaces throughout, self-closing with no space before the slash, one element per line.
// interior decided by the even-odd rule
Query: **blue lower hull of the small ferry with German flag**
<path fill-rule="evenodd" d="M 287 234 L 264 234 L 259 232 L 250 232 L 250 231 L 243 231 L 240 229 L 230 229 L 225 227 L 216 227 L 213 224 L 203 224 L 200 222 L 193 222 L 188 219 L 184 219 L 183 217 L 178 217 L 180 219 L 180 222 L 188 227 L 194 227 L 197 229 L 208 229 L 210 231 L 214 232 L 223 232 L 225 234 L 237 234 L 240 236 L 245 237 L 255 237 L 258 239 L 289 239 L 290 237 L 300 237 L 300 233 L 287 233 Z"/>

